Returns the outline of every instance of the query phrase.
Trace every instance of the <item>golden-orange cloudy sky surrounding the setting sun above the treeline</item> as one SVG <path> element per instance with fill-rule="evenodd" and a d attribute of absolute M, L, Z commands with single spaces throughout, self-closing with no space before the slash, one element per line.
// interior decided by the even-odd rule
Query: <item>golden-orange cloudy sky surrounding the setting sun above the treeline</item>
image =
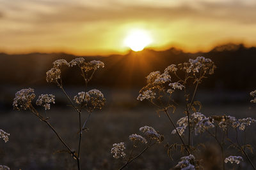
<path fill-rule="evenodd" d="M 0 52 L 122 53 L 131 29 L 152 48 L 256 45 L 255 0 L 0 0 Z"/>

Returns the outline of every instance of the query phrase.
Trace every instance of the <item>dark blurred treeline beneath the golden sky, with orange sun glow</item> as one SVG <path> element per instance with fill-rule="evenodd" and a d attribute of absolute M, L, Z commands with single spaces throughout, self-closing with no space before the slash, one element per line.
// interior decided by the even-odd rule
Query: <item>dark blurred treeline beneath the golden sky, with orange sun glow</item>
<path fill-rule="evenodd" d="M 104 69 L 97 71 L 92 84 L 106 87 L 142 87 L 145 76 L 152 71 L 163 72 L 170 64 L 179 64 L 189 58 L 204 56 L 211 58 L 217 66 L 214 75 L 204 81 L 204 88 L 220 90 L 253 90 L 256 87 L 256 48 L 244 45 L 216 46 L 210 52 L 185 53 L 176 48 L 166 51 L 143 50 L 127 55 L 108 57 L 90 56 L 86 60 L 102 60 Z M 0 53 L 1 85 L 46 85 L 45 73 L 56 59 L 68 62 L 77 56 L 65 53 L 29 53 L 8 55 Z M 84 56 L 83 56 L 84 57 Z M 83 83 L 78 69 L 63 69 L 65 84 Z M 201 87 L 202 88 L 202 87 Z"/>

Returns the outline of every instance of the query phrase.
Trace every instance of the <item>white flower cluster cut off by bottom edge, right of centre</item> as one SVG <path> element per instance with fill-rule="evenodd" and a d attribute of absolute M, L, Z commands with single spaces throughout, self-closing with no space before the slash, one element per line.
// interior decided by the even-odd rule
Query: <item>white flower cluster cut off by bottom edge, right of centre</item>
<path fill-rule="evenodd" d="M 175 168 L 179 168 L 181 170 L 195 170 L 195 157 L 194 155 L 189 155 L 186 157 L 181 157 L 180 162 L 175 166 Z"/>

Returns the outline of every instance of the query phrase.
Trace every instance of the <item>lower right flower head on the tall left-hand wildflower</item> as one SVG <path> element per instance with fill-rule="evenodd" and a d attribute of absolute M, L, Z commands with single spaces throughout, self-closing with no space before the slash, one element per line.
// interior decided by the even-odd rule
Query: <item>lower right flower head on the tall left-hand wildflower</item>
<path fill-rule="evenodd" d="M 89 92 L 79 92 L 76 96 L 74 96 L 74 101 L 77 104 L 83 104 L 83 106 L 87 106 L 88 109 L 99 109 L 106 103 L 106 99 L 102 92 L 97 89 L 90 90 Z"/>

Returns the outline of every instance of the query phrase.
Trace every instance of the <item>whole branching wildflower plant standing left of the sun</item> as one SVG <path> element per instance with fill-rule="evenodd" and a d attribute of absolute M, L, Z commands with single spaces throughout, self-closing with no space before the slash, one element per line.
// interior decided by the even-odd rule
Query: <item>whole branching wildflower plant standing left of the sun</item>
<path fill-rule="evenodd" d="M 72 97 L 68 96 L 66 90 L 63 87 L 63 81 L 61 78 L 61 69 L 63 67 L 78 67 L 81 71 L 81 75 L 84 80 L 84 92 L 79 92 L 76 96 Z M 34 93 L 34 89 L 22 89 L 15 94 L 15 98 L 13 99 L 13 108 L 15 110 L 29 110 L 38 117 L 42 122 L 45 122 L 51 130 L 56 134 L 60 142 L 65 146 L 67 152 L 76 160 L 77 168 L 81 169 L 80 166 L 80 151 L 81 151 L 81 138 L 83 131 L 86 128 L 86 123 L 88 122 L 90 115 L 94 110 L 102 110 L 106 103 L 106 99 L 102 92 L 97 89 L 88 90 L 88 83 L 92 80 L 93 75 L 97 69 L 103 68 L 104 63 L 101 61 L 93 60 L 87 62 L 83 57 L 79 57 L 76 59 L 67 62 L 67 60 L 59 59 L 55 60 L 52 63 L 52 68 L 46 72 L 46 81 L 48 83 L 56 83 L 56 85 L 61 89 L 64 96 L 67 97 L 70 106 L 74 108 L 74 111 L 77 112 L 77 117 L 79 118 L 79 122 L 77 124 L 79 129 L 79 138 L 78 138 L 78 146 L 77 150 L 74 151 L 70 148 L 70 146 L 61 138 L 60 134 L 54 129 L 54 127 L 49 122 L 49 117 L 46 115 L 42 115 L 36 108 L 37 106 L 44 107 L 44 110 L 50 110 L 51 104 L 55 103 L 55 96 L 52 94 L 41 94 L 36 103 L 33 104 L 33 99 L 35 99 L 36 95 Z M 87 118 L 85 120 L 81 119 L 82 111 L 86 111 L 88 113 Z M 6 137 L 2 137 L 6 140 Z M 7 138 L 8 139 L 8 138 Z"/>

